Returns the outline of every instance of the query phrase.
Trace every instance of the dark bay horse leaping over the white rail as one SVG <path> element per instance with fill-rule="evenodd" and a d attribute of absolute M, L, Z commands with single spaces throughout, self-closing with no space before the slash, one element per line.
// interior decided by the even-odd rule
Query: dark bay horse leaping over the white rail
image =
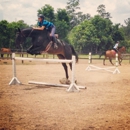
<path fill-rule="evenodd" d="M 54 45 L 50 38 L 50 33 L 44 30 L 34 30 L 33 28 L 26 28 L 20 30 L 16 34 L 16 47 L 21 48 L 22 43 L 26 40 L 27 37 L 32 39 L 32 46 L 27 50 L 29 54 L 41 54 L 42 52 L 47 52 L 48 54 L 56 54 L 59 59 L 72 59 L 72 55 L 76 56 L 76 61 L 78 62 L 78 55 L 76 54 L 72 45 L 69 45 L 63 41 L 57 39 L 58 49 L 54 49 Z M 66 63 L 62 63 L 66 79 L 68 76 L 68 67 Z M 72 69 L 72 63 L 69 64 Z"/>

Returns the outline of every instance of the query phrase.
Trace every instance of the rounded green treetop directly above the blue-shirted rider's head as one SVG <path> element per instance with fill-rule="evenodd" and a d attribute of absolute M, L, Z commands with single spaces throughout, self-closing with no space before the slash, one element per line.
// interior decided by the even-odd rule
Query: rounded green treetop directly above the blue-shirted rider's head
<path fill-rule="evenodd" d="M 54 8 L 51 5 L 46 4 L 37 11 L 38 14 L 43 14 L 46 20 L 55 22 Z"/>

